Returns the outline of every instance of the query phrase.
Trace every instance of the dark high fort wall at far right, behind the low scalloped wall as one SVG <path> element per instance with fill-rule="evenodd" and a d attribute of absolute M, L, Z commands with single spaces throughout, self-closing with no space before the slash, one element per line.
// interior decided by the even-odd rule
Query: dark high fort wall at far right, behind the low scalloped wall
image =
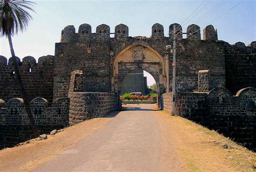
<path fill-rule="evenodd" d="M 245 46 L 242 42 L 225 42 L 226 88 L 235 94 L 246 87 L 256 88 L 256 41 Z"/>

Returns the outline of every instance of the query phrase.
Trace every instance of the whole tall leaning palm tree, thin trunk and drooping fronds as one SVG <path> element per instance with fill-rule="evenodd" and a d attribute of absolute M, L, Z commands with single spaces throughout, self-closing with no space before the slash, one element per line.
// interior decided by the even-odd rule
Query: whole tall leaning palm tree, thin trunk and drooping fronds
<path fill-rule="evenodd" d="M 19 89 L 22 94 L 22 98 L 24 101 L 24 106 L 26 109 L 26 113 L 28 114 L 30 125 L 32 127 L 33 133 L 36 137 L 39 136 L 38 130 L 35 125 L 35 120 L 33 119 L 28 97 L 26 96 L 26 91 L 24 88 L 24 84 L 22 82 L 21 74 L 19 73 L 19 68 L 14 52 L 14 47 L 12 45 L 12 36 L 17 34 L 18 31 L 25 31 L 28 27 L 29 21 L 32 19 L 31 15 L 28 11 L 30 10 L 35 12 L 33 7 L 33 2 L 26 0 L 0 0 L 0 32 L 3 36 L 6 36 L 9 40 L 9 45 L 11 49 L 11 56 L 14 62 L 16 79 L 19 84 Z"/>

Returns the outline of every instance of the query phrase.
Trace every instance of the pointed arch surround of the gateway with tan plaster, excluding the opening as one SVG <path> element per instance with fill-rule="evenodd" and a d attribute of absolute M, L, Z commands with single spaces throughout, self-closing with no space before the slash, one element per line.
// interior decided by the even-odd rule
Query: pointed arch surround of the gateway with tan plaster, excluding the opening
<path fill-rule="evenodd" d="M 158 97 L 164 92 L 166 64 L 163 57 L 146 42 L 134 41 L 114 58 L 111 89 L 119 95 L 124 77 L 132 70 L 141 68 L 150 73 L 157 84 Z M 159 104 L 159 101 L 158 101 Z"/>

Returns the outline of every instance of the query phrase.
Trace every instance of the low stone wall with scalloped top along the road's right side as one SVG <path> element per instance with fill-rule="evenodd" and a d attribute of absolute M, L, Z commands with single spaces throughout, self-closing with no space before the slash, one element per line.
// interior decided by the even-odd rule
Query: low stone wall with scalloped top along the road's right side
<path fill-rule="evenodd" d="M 164 110 L 172 109 L 171 93 L 163 94 Z M 208 94 L 177 92 L 175 114 L 223 133 L 245 147 L 256 150 L 256 90 L 241 89 L 233 96 L 218 87 Z"/>

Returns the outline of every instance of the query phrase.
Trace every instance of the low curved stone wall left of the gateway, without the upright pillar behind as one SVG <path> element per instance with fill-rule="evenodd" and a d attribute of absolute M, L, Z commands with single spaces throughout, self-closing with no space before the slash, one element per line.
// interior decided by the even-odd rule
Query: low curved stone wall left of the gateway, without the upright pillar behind
<path fill-rule="evenodd" d="M 70 94 L 69 124 L 103 117 L 116 110 L 116 96 L 103 92 L 72 92 Z"/>

